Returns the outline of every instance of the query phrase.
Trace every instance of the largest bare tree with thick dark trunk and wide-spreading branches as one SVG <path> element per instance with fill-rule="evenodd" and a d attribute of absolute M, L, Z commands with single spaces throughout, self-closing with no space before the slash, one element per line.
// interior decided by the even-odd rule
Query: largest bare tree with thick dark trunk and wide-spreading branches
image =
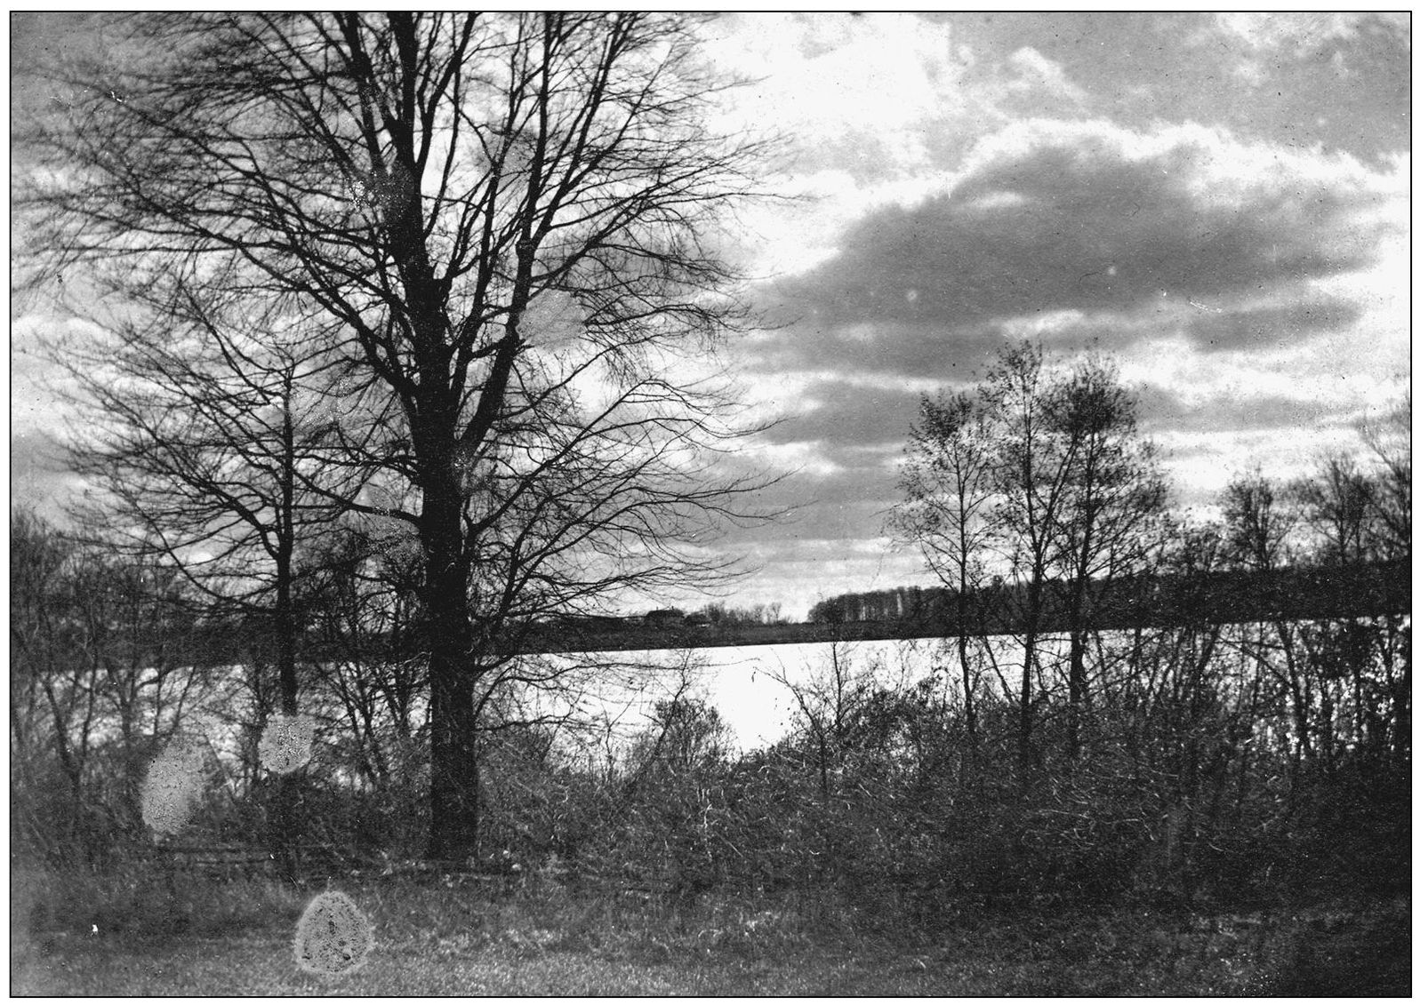
<path fill-rule="evenodd" d="M 757 487 L 713 477 L 703 361 L 743 319 L 710 238 L 763 145 L 704 126 L 680 16 L 122 27 L 142 60 L 62 72 L 71 106 L 21 138 L 43 274 L 290 297 L 398 406 L 398 491 L 341 504 L 423 549 L 432 853 L 467 855 L 517 626 L 726 571 L 683 545 Z"/>

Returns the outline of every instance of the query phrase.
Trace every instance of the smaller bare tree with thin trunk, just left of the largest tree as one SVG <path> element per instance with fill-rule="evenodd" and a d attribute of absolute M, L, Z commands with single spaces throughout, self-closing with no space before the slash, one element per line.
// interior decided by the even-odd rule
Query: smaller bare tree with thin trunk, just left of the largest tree
<path fill-rule="evenodd" d="M 65 460 L 91 487 L 75 514 L 106 545 L 185 575 L 212 615 L 258 626 L 294 715 L 297 554 L 364 487 L 381 416 L 355 432 L 361 395 L 283 302 L 170 292 L 139 290 L 142 309 L 102 336 L 47 346 L 67 376 Z"/>

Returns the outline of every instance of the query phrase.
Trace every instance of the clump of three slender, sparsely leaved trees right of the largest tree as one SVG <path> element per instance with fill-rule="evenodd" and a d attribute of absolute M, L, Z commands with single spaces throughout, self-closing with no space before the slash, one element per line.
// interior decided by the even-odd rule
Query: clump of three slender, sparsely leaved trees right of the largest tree
<path fill-rule="evenodd" d="M 973 636 L 988 569 L 1010 569 L 1021 639 L 1018 768 L 1031 765 L 1034 688 L 1047 623 L 1069 632 L 1066 754 L 1089 705 L 1086 647 L 1116 581 L 1147 568 L 1166 488 L 1137 430 L 1135 396 L 1098 356 L 1068 368 L 1039 346 L 1004 348 L 970 393 L 923 402 L 903 468 L 906 501 L 892 521 L 954 595 L 968 732 L 976 732 Z"/>

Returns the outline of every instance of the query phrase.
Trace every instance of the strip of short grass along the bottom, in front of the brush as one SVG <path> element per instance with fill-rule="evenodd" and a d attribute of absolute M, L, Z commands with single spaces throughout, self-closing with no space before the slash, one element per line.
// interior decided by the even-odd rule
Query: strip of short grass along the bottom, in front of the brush
<path fill-rule="evenodd" d="M 273 884 L 274 887 L 274 884 Z M 297 970 L 291 911 L 220 931 L 145 934 L 141 918 L 18 934 L 16 995 L 1409 995 L 1409 906 L 1248 916 L 1020 913 L 885 930 L 821 899 L 693 910 L 567 894 L 488 899 L 440 886 L 346 884 L 376 948 L 338 978 Z M 250 897 L 260 891 L 246 891 Z M 220 907 L 223 894 L 195 903 Z M 170 918 L 172 914 L 163 917 Z"/>

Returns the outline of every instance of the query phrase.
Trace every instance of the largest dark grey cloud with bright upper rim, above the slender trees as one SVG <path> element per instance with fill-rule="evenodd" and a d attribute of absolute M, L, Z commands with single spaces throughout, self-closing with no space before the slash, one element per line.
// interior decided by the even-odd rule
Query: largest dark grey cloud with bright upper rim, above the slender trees
<path fill-rule="evenodd" d="M 950 194 L 868 214 L 838 256 L 780 281 L 772 309 L 797 322 L 767 341 L 765 362 L 946 376 L 954 361 L 978 365 L 1005 322 L 1041 315 L 1075 312 L 1095 335 L 1133 341 L 1147 329 L 1098 322 L 1152 315 L 1164 297 L 1242 307 L 1190 319 L 1200 346 L 1352 321 L 1355 307 L 1315 295 L 1301 308 L 1247 304 L 1375 263 L 1377 224 L 1362 219 L 1382 196 L 1369 176 L 1278 159 L 1250 177 L 1230 152 L 1257 155 L 1197 128 L 1140 138 L 1032 123 L 997 138 Z"/>

